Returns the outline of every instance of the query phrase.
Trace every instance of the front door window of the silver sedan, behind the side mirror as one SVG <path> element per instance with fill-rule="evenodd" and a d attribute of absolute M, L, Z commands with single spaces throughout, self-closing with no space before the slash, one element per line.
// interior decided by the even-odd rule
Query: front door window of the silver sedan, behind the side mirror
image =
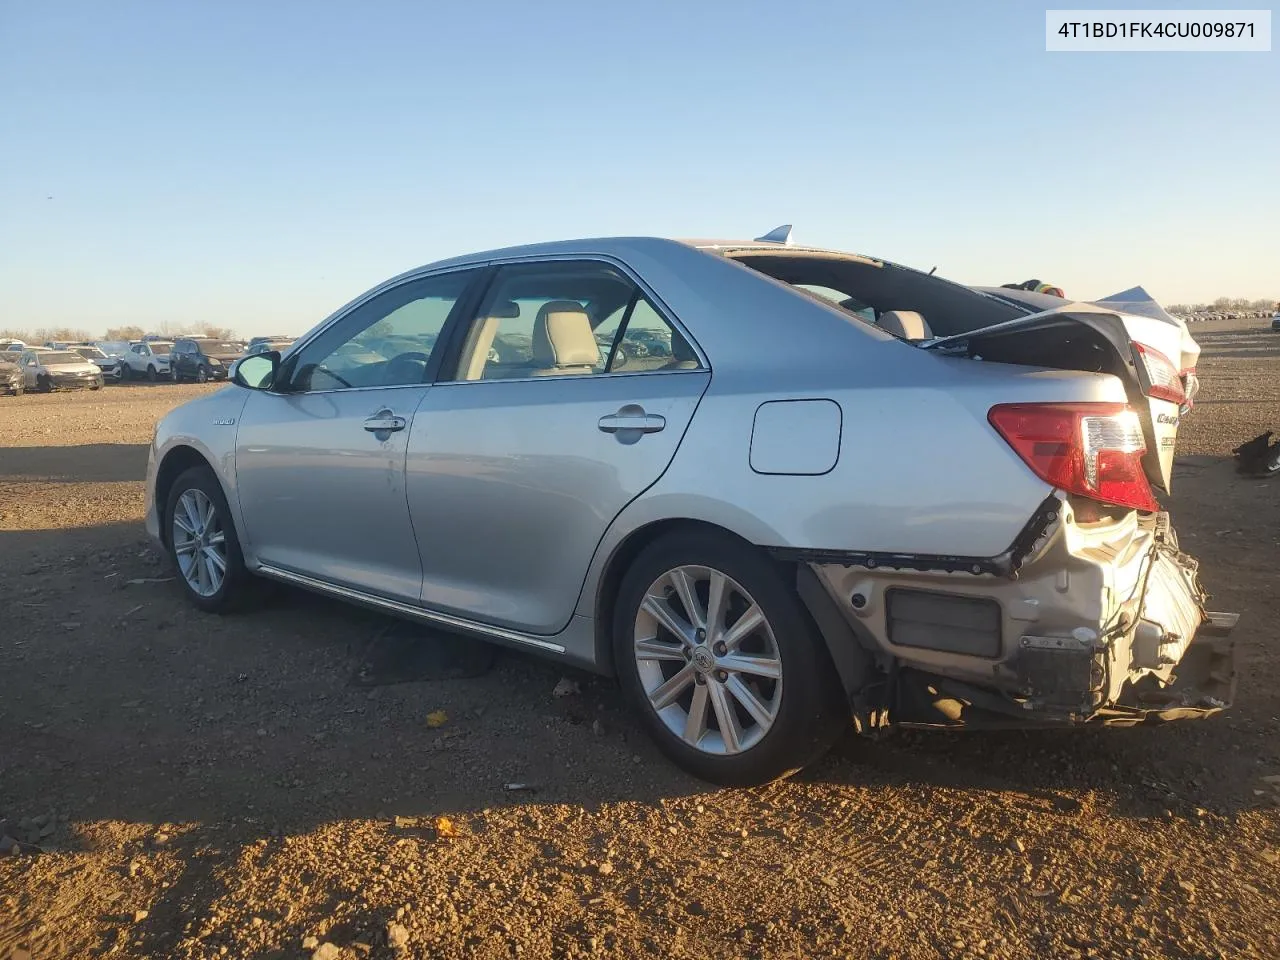
<path fill-rule="evenodd" d="M 444 323 L 476 270 L 408 280 L 361 303 L 291 357 L 289 390 L 426 383 Z"/>

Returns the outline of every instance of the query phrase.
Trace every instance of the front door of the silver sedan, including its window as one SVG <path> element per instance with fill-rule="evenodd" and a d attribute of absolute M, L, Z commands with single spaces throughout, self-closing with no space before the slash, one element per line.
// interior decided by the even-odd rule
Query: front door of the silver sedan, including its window
<path fill-rule="evenodd" d="M 439 334 L 479 273 L 407 280 L 364 301 L 292 353 L 269 390 L 250 393 L 236 477 L 260 562 L 417 602 L 404 452 Z"/>

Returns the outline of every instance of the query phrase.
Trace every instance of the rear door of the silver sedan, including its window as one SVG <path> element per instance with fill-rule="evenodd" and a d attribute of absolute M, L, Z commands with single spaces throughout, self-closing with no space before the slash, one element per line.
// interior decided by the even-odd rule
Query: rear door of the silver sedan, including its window
<path fill-rule="evenodd" d="M 641 332 L 667 347 L 641 349 Z M 710 371 L 630 275 L 596 260 L 498 268 L 457 334 L 408 440 L 421 602 L 556 634 L 608 525 L 675 456 Z"/>

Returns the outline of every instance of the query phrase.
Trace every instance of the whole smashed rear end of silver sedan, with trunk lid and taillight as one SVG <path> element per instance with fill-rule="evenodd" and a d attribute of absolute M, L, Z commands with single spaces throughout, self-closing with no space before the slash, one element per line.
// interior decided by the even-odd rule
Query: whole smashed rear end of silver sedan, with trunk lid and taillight
<path fill-rule="evenodd" d="M 1171 489 L 1190 406 L 1170 360 L 1179 337 L 1070 305 L 923 346 L 1110 374 L 1128 402 L 991 407 L 995 433 L 1053 488 L 1005 554 L 813 564 L 881 667 L 855 698 L 863 723 L 1132 724 L 1231 703 L 1235 614 L 1208 609 L 1198 564 L 1156 500 Z"/>

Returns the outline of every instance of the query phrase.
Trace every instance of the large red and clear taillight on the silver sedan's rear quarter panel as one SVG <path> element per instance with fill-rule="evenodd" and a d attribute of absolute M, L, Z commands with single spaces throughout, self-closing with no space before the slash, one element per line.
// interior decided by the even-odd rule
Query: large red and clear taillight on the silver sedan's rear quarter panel
<path fill-rule="evenodd" d="M 1002 403 L 987 419 L 1044 483 L 1102 503 L 1160 509 L 1142 468 L 1142 421 L 1123 403 Z"/>

